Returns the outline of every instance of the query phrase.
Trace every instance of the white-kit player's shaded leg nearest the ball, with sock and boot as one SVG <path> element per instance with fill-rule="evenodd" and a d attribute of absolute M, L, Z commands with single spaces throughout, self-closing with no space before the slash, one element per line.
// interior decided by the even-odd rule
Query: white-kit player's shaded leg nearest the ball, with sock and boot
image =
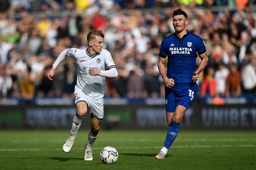
<path fill-rule="evenodd" d="M 84 145 L 84 150 L 85 150 L 84 160 L 93 160 L 92 144 L 95 142 L 99 134 L 101 121 L 102 121 L 101 119 L 96 118 L 95 116 L 93 116 L 93 114 L 91 115 L 91 127 L 88 133 L 88 141 Z"/>

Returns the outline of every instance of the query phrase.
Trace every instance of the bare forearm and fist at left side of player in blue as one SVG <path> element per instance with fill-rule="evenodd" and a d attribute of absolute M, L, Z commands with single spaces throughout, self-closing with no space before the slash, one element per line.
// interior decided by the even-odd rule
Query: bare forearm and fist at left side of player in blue
<path fill-rule="evenodd" d="M 158 63 L 157 63 L 158 70 L 159 70 L 160 75 L 163 78 L 165 86 L 168 87 L 168 88 L 172 88 L 175 83 L 174 83 L 173 79 L 169 79 L 166 76 L 166 68 L 164 66 L 165 61 L 166 61 L 166 58 L 159 57 Z"/>

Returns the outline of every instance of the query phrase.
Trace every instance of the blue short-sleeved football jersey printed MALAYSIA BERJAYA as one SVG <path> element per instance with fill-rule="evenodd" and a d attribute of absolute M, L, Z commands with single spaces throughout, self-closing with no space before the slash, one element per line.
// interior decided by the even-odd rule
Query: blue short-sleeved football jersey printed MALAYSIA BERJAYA
<path fill-rule="evenodd" d="M 197 54 L 206 52 L 204 40 L 193 33 L 179 38 L 175 33 L 163 39 L 159 57 L 168 57 L 167 77 L 175 82 L 192 82 Z"/>

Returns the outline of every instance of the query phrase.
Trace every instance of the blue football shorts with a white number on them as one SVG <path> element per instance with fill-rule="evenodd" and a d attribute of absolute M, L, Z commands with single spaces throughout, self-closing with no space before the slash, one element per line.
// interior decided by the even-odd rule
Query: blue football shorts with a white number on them
<path fill-rule="evenodd" d="M 188 109 L 198 95 L 196 82 L 175 83 L 172 88 L 165 87 L 165 109 L 166 112 L 174 112 L 177 105 Z"/>

